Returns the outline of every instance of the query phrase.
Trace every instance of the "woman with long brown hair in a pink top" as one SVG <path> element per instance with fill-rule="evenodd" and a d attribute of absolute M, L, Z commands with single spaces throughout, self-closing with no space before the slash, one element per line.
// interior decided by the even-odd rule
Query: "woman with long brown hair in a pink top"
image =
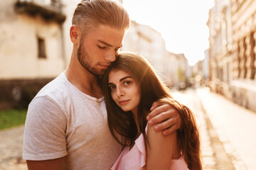
<path fill-rule="evenodd" d="M 193 113 L 171 98 L 144 57 L 122 52 L 102 81 L 110 131 L 124 146 L 112 169 L 202 169 Z M 157 100 L 170 103 L 182 118 L 181 128 L 167 137 L 147 125 L 146 116 Z"/>

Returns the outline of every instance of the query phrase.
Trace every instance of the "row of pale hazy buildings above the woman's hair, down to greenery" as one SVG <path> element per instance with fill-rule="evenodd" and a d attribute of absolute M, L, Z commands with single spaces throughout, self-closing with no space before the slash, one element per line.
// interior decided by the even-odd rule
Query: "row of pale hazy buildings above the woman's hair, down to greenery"
<path fill-rule="evenodd" d="M 124 37 L 122 50 L 139 52 L 152 64 L 161 79 L 173 89 L 185 89 L 191 67 L 184 54 L 174 54 L 166 50 L 161 33 L 150 26 L 135 21 Z"/>

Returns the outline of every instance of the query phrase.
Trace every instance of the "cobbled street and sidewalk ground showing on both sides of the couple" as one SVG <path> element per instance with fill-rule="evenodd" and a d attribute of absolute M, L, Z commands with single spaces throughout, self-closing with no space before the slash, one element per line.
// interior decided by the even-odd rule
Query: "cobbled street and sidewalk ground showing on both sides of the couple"
<path fill-rule="evenodd" d="M 201 134 L 203 169 L 256 169 L 256 113 L 208 89 L 172 92 L 191 108 Z M 21 159 L 23 126 L 0 131 L 0 170 L 25 170 Z"/>

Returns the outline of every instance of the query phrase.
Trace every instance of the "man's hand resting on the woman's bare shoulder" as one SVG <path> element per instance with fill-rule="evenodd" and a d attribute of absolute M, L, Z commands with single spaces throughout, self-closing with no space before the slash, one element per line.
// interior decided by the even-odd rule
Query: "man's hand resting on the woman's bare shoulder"
<path fill-rule="evenodd" d="M 163 135 L 169 135 L 181 128 L 181 115 L 168 103 L 156 101 L 150 111 L 151 113 L 146 117 L 149 125 L 154 125 L 156 131 L 163 130 Z"/>

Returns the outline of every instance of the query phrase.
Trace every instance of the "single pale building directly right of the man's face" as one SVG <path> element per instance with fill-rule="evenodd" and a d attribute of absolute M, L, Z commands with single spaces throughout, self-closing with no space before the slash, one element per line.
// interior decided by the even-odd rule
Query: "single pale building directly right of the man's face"
<path fill-rule="evenodd" d="M 139 52 L 161 74 L 164 74 L 166 67 L 168 67 L 165 62 L 168 52 L 164 38 L 161 37 L 161 33 L 150 26 L 132 21 L 124 37 L 124 47 L 122 47 L 122 50 Z"/>

